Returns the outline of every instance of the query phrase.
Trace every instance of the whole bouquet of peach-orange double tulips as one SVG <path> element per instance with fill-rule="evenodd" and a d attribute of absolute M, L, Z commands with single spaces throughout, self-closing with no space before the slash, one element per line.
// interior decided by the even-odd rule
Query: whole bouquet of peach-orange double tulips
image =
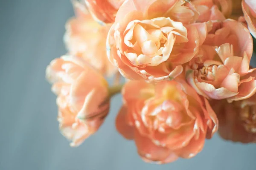
<path fill-rule="evenodd" d="M 146 162 L 192 158 L 217 131 L 256 142 L 256 0 L 72 3 L 68 52 L 46 70 L 72 147 L 99 129 L 118 93 L 116 129 Z"/>

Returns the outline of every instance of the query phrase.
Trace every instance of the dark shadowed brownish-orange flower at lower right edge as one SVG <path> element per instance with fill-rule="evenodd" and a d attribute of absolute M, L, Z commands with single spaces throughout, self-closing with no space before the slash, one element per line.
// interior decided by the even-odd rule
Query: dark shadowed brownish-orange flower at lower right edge
<path fill-rule="evenodd" d="M 218 133 L 223 139 L 256 143 L 256 95 L 232 103 L 216 100 L 211 105 L 218 116 Z"/>

